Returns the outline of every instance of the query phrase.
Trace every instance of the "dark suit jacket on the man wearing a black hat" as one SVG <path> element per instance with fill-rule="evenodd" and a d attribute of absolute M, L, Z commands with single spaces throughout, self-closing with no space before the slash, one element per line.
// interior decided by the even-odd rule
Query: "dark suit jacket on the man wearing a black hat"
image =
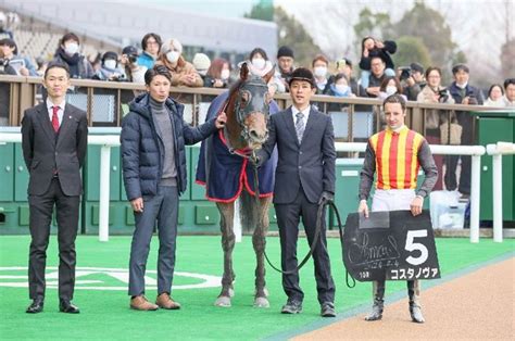
<path fill-rule="evenodd" d="M 274 203 L 293 202 L 300 186 L 312 203 L 323 191 L 335 193 L 335 135 L 329 116 L 312 108 L 299 143 L 291 108 L 272 115 L 268 140 L 259 152 L 260 164 L 268 160 L 276 144 Z"/>

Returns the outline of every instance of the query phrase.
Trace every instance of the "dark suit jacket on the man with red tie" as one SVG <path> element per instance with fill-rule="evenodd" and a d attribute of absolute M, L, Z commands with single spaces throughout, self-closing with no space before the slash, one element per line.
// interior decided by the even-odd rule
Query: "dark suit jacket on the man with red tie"
<path fill-rule="evenodd" d="M 56 169 L 63 193 L 79 195 L 87 143 L 88 123 L 83 110 L 66 103 L 55 134 L 45 102 L 27 109 L 22 119 L 22 149 L 29 173 L 28 194 L 43 194 Z"/>

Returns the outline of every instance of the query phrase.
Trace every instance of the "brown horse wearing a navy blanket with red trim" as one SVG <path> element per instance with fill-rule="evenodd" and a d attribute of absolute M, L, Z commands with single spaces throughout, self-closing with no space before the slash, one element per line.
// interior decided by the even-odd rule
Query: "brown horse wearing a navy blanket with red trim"
<path fill-rule="evenodd" d="M 274 68 L 263 77 L 251 75 L 246 63 L 240 79 L 228 92 L 218 96 L 210 105 L 208 118 L 224 111 L 227 122 L 224 129 L 202 142 L 197 167 L 197 184 L 206 187 L 206 198 L 216 203 L 221 214 L 224 274 L 222 290 L 215 305 L 231 306 L 235 273 L 235 201 L 240 199 L 240 217 L 243 229 L 254 227 L 252 244 L 256 255 L 254 306 L 269 307 L 265 287 L 265 236 L 268 230 L 268 209 L 272 203 L 274 174 L 277 159 L 258 169 L 249 157 L 266 141 L 269 113 L 279 109 L 272 101 L 267 83 Z M 258 172 L 254 174 L 253 172 Z M 259 185 L 255 188 L 254 176 Z"/>

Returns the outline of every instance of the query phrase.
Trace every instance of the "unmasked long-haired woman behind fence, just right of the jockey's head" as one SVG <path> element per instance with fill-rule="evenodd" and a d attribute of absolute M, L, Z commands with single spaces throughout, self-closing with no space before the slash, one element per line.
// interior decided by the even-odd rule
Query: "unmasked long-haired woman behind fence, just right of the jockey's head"
<path fill-rule="evenodd" d="M 417 102 L 420 103 L 447 103 L 454 104 L 454 99 L 449 93 L 449 90 L 441 86 L 441 70 L 439 67 L 429 66 L 426 70 L 426 79 L 427 86 L 422 89 L 417 96 Z M 440 144 L 441 141 L 441 127 L 442 123 L 449 121 L 447 113 L 441 112 L 438 109 L 427 109 L 425 110 L 424 116 L 424 126 L 425 131 L 424 136 L 429 144 Z M 455 117 L 453 117 L 455 119 Z M 449 128 L 448 128 L 449 129 Z M 448 141 L 443 141 L 447 143 Z M 443 156 L 434 155 L 435 164 L 438 168 L 438 179 L 435 184 L 435 190 L 441 190 L 443 188 L 442 184 L 442 167 L 443 167 Z"/>

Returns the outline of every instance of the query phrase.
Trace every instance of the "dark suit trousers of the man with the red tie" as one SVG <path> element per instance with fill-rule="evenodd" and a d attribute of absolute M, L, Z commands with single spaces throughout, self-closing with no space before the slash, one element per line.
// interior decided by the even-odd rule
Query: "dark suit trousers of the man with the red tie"
<path fill-rule="evenodd" d="M 30 251 L 28 288 L 32 300 L 45 298 L 45 267 L 50 237 L 50 223 L 55 205 L 59 241 L 59 298 L 72 300 L 75 286 L 75 238 L 78 228 L 79 195 L 65 195 L 59 178 L 52 178 L 41 195 L 29 195 Z"/>

